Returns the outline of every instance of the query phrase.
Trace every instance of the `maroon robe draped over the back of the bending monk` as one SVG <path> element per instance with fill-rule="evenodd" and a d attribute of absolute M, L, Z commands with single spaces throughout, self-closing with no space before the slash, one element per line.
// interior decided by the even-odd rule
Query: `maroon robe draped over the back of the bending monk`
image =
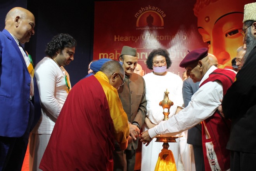
<path fill-rule="evenodd" d="M 39 168 L 43 171 L 111 170 L 113 133 L 102 86 L 94 76 L 82 79 L 67 96 Z"/>

